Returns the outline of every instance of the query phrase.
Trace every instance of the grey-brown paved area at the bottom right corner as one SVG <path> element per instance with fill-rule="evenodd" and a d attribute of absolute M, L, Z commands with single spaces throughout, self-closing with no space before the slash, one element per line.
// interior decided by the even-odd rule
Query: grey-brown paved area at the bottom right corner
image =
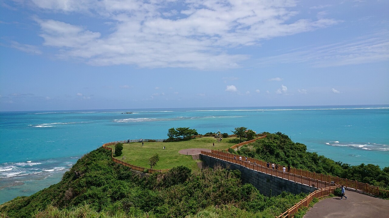
<path fill-rule="evenodd" d="M 347 200 L 331 197 L 310 208 L 304 218 L 389 218 L 389 200 L 346 190 Z"/>

